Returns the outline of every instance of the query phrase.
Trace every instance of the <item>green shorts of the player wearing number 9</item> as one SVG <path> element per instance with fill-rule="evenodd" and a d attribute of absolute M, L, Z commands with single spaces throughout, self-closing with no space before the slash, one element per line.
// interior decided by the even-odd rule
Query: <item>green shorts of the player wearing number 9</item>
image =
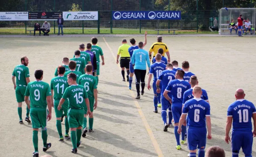
<path fill-rule="evenodd" d="M 47 125 L 47 109 L 41 107 L 30 108 L 32 128 L 45 128 Z"/>

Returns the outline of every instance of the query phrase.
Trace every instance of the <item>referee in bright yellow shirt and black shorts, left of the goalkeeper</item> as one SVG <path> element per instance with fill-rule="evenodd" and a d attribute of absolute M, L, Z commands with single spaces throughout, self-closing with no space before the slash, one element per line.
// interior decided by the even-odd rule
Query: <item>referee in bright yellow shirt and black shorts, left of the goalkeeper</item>
<path fill-rule="evenodd" d="M 129 74 L 130 74 L 130 70 L 129 70 L 129 66 L 130 66 L 130 54 L 129 54 L 129 45 L 127 44 L 126 39 L 122 40 L 122 45 L 119 46 L 118 48 L 118 52 L 117 52 L 117 56 L 116 56 L 116 64 L 119 63 L 119 56 L 120 56 L 120 66 L 122 69 L 122 77 L 123 77 L 123 81 L 125 81 L 125 69 L 127 71 L 127 82 L 129 82 Z"/>

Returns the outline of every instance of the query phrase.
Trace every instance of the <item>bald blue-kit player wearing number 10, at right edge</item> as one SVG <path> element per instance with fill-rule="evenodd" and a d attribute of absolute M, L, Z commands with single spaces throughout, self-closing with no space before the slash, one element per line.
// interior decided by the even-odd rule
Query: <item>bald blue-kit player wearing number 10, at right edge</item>
<path fill-rule="evenodd" d="M 227 108 L 227 126 L 225 141 L 229 143 L 232 128 L 232 157 L 238 157 L 242 148 L 245 157 L 252 157 L 253 137 L 256 137 L 256 109 L 253 103 L 244 99 L 244 90 L 236 90 L 236 101 Z M 252 118 L 254 130 L 252 132 Z"/>

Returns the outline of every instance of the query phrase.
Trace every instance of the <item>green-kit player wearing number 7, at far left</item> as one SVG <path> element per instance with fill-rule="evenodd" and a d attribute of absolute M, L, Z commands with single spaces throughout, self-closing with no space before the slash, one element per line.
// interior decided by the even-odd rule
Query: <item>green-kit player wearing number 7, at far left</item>
<path fill-rule="evenodd" d="M 16 100 L 18 103 L 18 115 L 20 117 L 20 124 L 23 124 L 22 120 L 22 102 L 24 101 L 26 86 L 30 82 L 29 80 L 29 59 L 26 56 L 21 57 L 21 64 L 17 65 L 12 72 L 12 83 L 15 89 Z M 16 83 L 15 83 L 16 77 Z M 26 118 L 25 120 L 28 123 L 31 123 L 29 120 L 29 108 L 26 108 Z"/>

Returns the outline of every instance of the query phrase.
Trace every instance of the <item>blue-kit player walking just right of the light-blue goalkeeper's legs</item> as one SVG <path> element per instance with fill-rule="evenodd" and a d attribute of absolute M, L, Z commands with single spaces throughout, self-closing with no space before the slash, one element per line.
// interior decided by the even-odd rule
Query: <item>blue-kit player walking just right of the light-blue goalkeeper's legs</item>
<path fill-rule="evenodd" d="M 161 57 L 162 57 L 161 54 L 156 54 L 155 58 L 157 62 L 150 66 L 150 71 L 148 76 L 148 90 L 150 90 L 151 89 L 150 81 L 152 78 L 152 74 L 154 75 L 154 80 L 152 85 L 153 91 L 154 91 L 154 108 L 155 108 L 154 113 L 157 113 L 157 104 L 161 103 L 161 97 L 160 97 L 161 94 L 157 93 L 156 82 L 161 72 L 166 70 L 166 65 L 164 63 L 161 63 Z M 161 88 L 161 85 L 160 85 L 160 88 Z"/>

